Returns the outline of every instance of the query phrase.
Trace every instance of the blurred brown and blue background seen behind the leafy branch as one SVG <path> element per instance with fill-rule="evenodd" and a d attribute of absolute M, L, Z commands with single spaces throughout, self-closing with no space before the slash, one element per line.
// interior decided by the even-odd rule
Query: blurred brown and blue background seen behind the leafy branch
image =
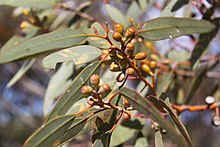
<path fill-rule="evenodd" d="M 178 9 L 175 13 L 171 12 L 171 6 L 177 4 L 178 0 L 146 0 L 147 6 L 143 14 L 137 18 L 137 21 L 148 20 L 159 16 L 184 16 L 202 18 L 204 15 L 198 11 L 208 10 L 215 5 L 212 18 L 215 17 L 219 21 L 220 9 L 219 2 L 214 1 L 185 1 L 186 5 Z M 179 0 L 180 1 L 180 0 Z M 104 3 L 101 0 L 64 0 L 68 8 L 77 9 L 83 7 L 80 11 L 89 14 L 82 16 L 77 11 L 69 11 L 53 6 L 46 10 L 36 10 L 40 18 L 47 17 L 44 23 L 46 31 L 52 31 L 57 28 L 85 26 L 97 20 L 101 24 L 106 21 L 111 22 Z M 123 14 L 128 10 L 132 0 L 112 0 L 111 5 L 118 8 Z M 172 4 L 173 3 L 173 4 Z M 198 4 L 199 3 L 199 4 Z M 83 6 L 82 4 L 86 4 Z M 182 4 L 183 5 L 183 4 Z M 16 6 L 16 5 L 15 5 Z M 41 6 L 39 6 L 41 7 Z M 0 46 L 9 40 L 14 34 L 24 35 L 20 24 L 27 20 L 21 11 L 26 7 L 0 6 Z M 33 9 L 35 10 L 35 9 Z M 134 16 L 135 16 L 135 12 Z M 45 18 L 46 18 L 45 17 Z M 86 19 L 85 19 L 86 17 Z M 136 17 L 136 16 L 135 16 Z M 89 21 L 88 21 L 89 20 Z M 112 25 L 112 24 L 110 24 Z M 154 42 L 155 48 L 170 61 L 185 61 L 189 60 L 192 50 L 195 49 L 198 35 L 184 36 L 177 39 L 166 39 Z M 201 36 L 200 36 L 201 37 Z M 211 41 L 204 52 L 200 61 L 201 66 L 206 66 L 206 62 L 212 62 L 212 59 L 218 58 L 220 55 L 220 33 L 218 32 L 215 38 Z M 38 128 L 44 119 L 43 116 L 43 98 L 47 89 L 47 85 L 51 76 L 55 71 L 44 70 L 41 66 L 41 61 L 37 60 L 30 69 L 19 79 L 13 86 L 7 88 L 6 85 L 10 79 L 17 73 L 19 68 L 24 63 L 23 60 L 1 64 L 0 65 L 0 146 L 21 146 L 24 141 L 30 136 L 36 128 Z M 168 63 L 170 64 L 170 63 Z M 170 64 L 175 66 L 175 62 Z M 200 66 L 200 67 L 201 67 Z M 187 69 L 183 68 L 183 69 Z M 81 68 L 79 67 L 79 70 Z M 207 96 L 213 96 L 216 101 L 220 99 L 220 66 L 219 63 L 211 67 L 208 71 L 206 68 L 198 70 L 181 72 L 179 75 L 173 74 L 171 71 L 159 72 L 157 77 L 157 92 L 166 92 L 170 101 L 178 104 L 204 104 Z M 77 71 L 74 72 L 77 74 Z M 181 75 L 181 76 L 180 76 Z M 193 86 L 193 82 L 197 84 Z M 138 83 L 132 83 L 133 87 L 141 87 Z M 191 90 L 191 91 L 190 91 Z M 187 97 L 188 96 L 188 97 Z M 178 98 L 178 99 L 176 99 Z M 211 125 L 213 115 L 211 111 L 205 112 L 189 112 L 181 113 L 180 117 L 185 124 L 195 146 L 198 147 L 217 147 L 220 144 L 219 127 Z M 140 121 L 141 122 L 141 121 Z M 153 134 L 148 131 L 149 125 L 144 126 L 148 136 L 148 144 L 154 141 Z M 132 133 L 132 132 L 128 132 Z M 135 133 L 134 133 L 135 134 Z M 140 134 L 136 134 L 140 135 Z M 91 135 L 87 134 L 73 140 L 72 146 L 91 146 Z M 166 140 L 166 137 L 164 138 Z M 88 141 L 88 142 L 87 142 Z M 134 140 L 129 140 L 126 146 L 134 144 Z M 165 141 L 165 146 L 170 146 L 170 143 Z"/>

